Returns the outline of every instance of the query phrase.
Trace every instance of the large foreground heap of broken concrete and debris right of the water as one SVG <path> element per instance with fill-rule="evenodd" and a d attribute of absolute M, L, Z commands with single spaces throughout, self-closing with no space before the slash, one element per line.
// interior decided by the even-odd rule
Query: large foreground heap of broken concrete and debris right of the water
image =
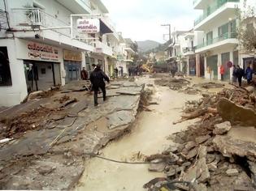
<path fill-rule="evenodd" d="M 187 102 L 180 121 L 201 121 L 170 136 L 175 145 L 147 161 L 164 172 L 148 190 L 256 190 L 256 109 L 249 91 L 224 89 Z"/>

